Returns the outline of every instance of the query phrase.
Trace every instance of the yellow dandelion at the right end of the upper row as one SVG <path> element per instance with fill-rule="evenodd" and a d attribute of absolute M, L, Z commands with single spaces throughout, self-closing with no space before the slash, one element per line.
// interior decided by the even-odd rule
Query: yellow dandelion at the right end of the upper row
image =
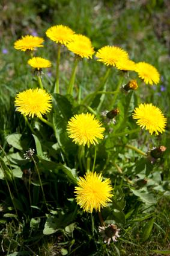
<path fill-rule="evenodd" d="M 157 85 L 160 80 L 160 74 L 154 66 L 146 62 L 136 63 L 136 70 L 138 76 L 144 80 L 147 85 Z"/>

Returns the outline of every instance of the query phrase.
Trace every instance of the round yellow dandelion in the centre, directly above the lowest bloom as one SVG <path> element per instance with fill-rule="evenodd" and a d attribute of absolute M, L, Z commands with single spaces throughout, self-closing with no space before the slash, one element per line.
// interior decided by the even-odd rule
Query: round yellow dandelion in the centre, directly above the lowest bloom
<path fill-rule="evenodd" d="M 68 121 L 67 132 L 76 144 L 83 146 L 87 144 L 90 147 L 90 144 L 98 144 L 97 139 L 103 139 L 102 133 L 105 128 L 101 126 L 102 123 L 94 115 L 82 113 L 71 117 Z"/>

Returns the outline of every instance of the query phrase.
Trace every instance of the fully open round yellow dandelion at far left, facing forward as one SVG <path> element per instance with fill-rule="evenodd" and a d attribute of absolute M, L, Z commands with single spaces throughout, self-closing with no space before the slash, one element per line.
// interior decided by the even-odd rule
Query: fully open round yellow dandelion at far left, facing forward
<path fill-rule="evenodd" d="M 29 117 L 42 117 L 52 108 L 52 97 L 44 89 L 28 89 L 19 92 L 15 99 L 17 111 Z"/>

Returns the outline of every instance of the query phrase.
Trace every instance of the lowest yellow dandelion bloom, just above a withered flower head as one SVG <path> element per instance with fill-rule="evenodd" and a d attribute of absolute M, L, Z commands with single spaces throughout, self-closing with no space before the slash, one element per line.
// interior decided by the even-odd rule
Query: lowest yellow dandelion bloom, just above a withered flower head
<path fill-rule="evenodd" d="M 77 204 L 83 211 L 93 212 L 93 209 L 100 211 L 111 202 L 112 185 L 110 179 L 102 181 L 102 174 L 86 173 L 84 178 L 80 177 L 75 187 Z"/>

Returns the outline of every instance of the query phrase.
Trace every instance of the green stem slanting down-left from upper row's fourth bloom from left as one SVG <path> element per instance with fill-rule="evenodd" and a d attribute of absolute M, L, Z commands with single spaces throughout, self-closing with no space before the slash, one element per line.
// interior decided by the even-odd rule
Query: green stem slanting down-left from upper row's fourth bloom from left
<path fill-rule="evenodd" d="M 93 94 L 87 95 L 87 97 L 85 97 L 85 99 L 83 100 L 83 103 L 92 104 L 92 102 L 93 102 L 94 98 L 96 97 L 96 95 L 98 94 L 98 92 L 104 88 L 104 86 L 108 80 L 110 72 L 111 72 L 111 67 L 107 69 L 106 74 L 103 77 L 103 79 L 102 79 L 100 85 L 98 86 L 98 88 L 96 89 L 96 91 L 94 91 Z M 101 92 L 100 92 L 100 94 L 101 94 Z"/>

